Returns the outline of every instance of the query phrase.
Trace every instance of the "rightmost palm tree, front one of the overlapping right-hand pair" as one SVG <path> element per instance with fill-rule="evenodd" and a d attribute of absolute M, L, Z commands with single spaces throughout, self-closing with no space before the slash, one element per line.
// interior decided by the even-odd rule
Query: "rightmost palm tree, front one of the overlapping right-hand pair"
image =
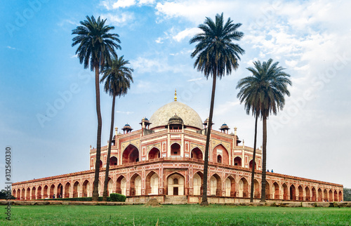
<path fill-rule="evenodd" d="M 267 119 L 270 114 L 276 115 L 279 109 L 283 109 L 284 95 L 290 96 L 288 85 L 292 85 L 290 75 L 283 72 L 284 68 L 278 67 L 278 64 L 279 62 L 273 63 L 272 59 L 263 63 L 258 60 L 253 62 L 254 67 L 247 68 L 252 73 L 253 80 L 256 80 L 252 88 L 257 90 L 256 101 L 259 100 L 259 105 L 256 106 L 259 106 L 260 117 L 263 120 L 261 202 L 265 202 Z"/>

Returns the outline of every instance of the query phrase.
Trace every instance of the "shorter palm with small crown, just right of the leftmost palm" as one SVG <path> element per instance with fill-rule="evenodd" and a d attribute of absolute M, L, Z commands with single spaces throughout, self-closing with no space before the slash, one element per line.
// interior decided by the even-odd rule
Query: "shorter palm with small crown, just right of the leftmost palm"
<path fill-rule="evenodd" d="M 103 75 L 100 82 L 105 81 L 104 90 L 106 93 L 112 95 L 110 142 L 107 150 L 107 163 L 102 201 L 107 201 L 107 185 L 110 171 L 111 143 L 114 125 L 114 103 L 117 96 L 120 98 L 122 95 L 126 95 L 128 88 L 131 87 L 131 82 L 133 82 L 132 72 L 134 69 L 126 67 L 128 64 L 129 61 L 124 60 L 122 55 L 120 58 L 112 59 L 111 65 L 107 65 L 107 67 L 102 69 Z"/>

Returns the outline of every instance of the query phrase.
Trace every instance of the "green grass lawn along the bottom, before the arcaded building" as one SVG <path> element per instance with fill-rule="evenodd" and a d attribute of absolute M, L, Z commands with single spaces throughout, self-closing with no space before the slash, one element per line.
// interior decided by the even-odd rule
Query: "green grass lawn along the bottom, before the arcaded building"
<path fill-rule="evenodd" d="M 351 225 L 351 208 L 12 206 L 5 217 L 0 225 Z"/>

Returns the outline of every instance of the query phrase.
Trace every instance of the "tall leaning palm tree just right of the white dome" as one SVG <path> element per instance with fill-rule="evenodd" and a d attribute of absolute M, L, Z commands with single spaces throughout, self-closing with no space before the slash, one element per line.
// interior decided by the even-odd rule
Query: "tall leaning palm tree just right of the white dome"
<path fill-rule="evenodd" d="M 221 79 L 225 74 L 231 74 L 232 69 L 239 67 L 239 54 L 245 51 L 233 41 L 239 41 L 244 33 L 238 32 L 240 23 L 235 24 L 230 18 L 224 23 L 223 13 L 216 15 L 216 21 L 206 18 L 204 24 L 199 25 L 201 33 L 196 34 L 190 39 L 190 44 L 198 42 L 195 46 L 191 57 L 197 56 L 194 62 L 194 68 L 197 67 L 198 72 L 203 72 L 206 79 L 211 75 L 212 94 L 210 114 L 208 117 L 208 129 L 206 131 L 206 148 L 204 162 L 204 185 L 202 192 L 201 206 L 208 206 L 207 201 L 207 171 L 208 171 L 208 149 L 211 134 L 211 125 L 213 117 L 213 104 L 216 91 L 216 79 Z"/>

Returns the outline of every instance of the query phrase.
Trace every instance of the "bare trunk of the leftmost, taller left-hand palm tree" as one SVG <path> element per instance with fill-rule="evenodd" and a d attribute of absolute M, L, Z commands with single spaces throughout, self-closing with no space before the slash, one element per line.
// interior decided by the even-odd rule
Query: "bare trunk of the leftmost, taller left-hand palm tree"
<path fill-rule="evenodd" d="M 98 183 L 100 173 L 100 156 L 101 156 L 101 127 L 102 118 L 100 111 L 100 86 L 99 86 L 99 65 L 95 65 L 95 95 L 96 95 L 96 114 L 98 115 L 98 135 L 96 139 L 96 161 L 95 161 L 95 177 L 93 186 L 93 201 L 98 201 Z"/>

